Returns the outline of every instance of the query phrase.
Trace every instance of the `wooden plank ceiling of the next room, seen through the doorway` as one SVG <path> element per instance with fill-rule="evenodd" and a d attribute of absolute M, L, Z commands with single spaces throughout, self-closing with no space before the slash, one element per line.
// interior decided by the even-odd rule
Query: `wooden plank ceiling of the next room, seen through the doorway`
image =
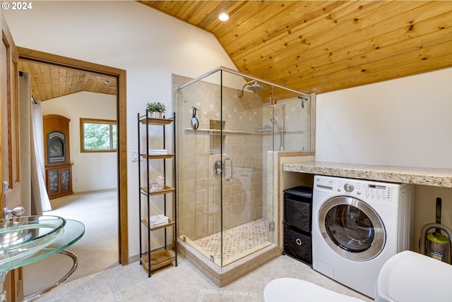
<path fill-rule="evenodd" d="M 37 101 L 89 91 L 117 94 L 117 78 L 87 71 L 19 60 L 20 71 L 30 74 L 32 96 Z"/>

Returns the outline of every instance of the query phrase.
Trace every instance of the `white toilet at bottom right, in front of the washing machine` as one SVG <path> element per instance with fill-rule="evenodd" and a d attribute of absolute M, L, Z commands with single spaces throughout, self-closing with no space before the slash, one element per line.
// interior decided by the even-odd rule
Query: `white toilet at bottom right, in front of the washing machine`
<path fill-rule="evenodd" d="M 376 302 L 451 302 L 452 265 L 405 250 L 380 270 Z M 265 302 L 363 302 L 301 279 L 280 278 L 263 290 Z"/>

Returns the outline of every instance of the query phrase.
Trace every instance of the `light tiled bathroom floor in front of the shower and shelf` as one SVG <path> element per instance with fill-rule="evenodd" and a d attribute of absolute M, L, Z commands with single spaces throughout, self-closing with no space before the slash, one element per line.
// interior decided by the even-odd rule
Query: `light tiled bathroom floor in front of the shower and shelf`
<path fill-rule="evenodd" d="M 307 280 L 340 294 L 373 299 L 338 284 L 287 255 L 281 255 L 253 272 L 219 288 L 188 260 L 178 258 L 178 265 L 168 265 L 148 278 L 143 266 L 133 262 L 61 284 L 39 302 L 263 302 L 263 289 L 276 278 L 291 277 Z M 229 298 L 229 299 L 228 299 Z M 231 300 L 231 298 L 236 298 Z M 299 297 L 295 297 L 299 298 Z M 242 299 L 242 300 L 240 300 Z M 301 300 L 301 298 L 300 298 Z"/>

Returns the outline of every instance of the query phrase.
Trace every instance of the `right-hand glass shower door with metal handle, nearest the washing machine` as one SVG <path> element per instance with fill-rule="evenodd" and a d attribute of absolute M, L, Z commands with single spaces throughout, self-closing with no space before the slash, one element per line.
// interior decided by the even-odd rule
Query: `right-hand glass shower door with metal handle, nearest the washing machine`
<path fill-rule="evenodd" d="M 273 145 L 266 144 L 273 131 L 264 118 L 273 111 L 269 92 L 269 85 L 222 71 L 222 266 L 270 246 L 273 237 L 273 198 L 268 196 Z"/>

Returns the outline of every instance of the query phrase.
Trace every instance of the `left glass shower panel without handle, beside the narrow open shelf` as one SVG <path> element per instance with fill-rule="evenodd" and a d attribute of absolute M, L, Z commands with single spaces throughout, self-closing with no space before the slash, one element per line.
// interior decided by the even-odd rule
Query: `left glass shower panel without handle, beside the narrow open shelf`
<path fill-rule="evenodd" d="M 184 80 L 184 79 L 180 79 Z M 178 234 L 221 265 L 221 73 L 178 90 Z"/>

